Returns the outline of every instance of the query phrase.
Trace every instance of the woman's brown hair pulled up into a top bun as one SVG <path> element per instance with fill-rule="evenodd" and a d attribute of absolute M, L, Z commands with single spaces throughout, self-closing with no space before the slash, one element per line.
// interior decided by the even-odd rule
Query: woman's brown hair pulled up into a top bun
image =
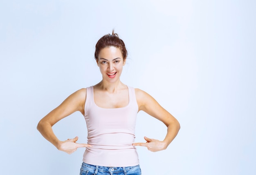
<path fill-rule="evenodd" d="M 112 30 L 112 35 L 111 34 L 104 35 L 97 42 L 95 46 L 95 53 L 94 53 L 95 60 L 98 60 L 99 52 L 101 51 L 101 49 L 104 49 L 105 47 L 110 47 L 110 46 L 119 48 L 124 60 L 126 59 L 128 53 L 127 53 L 124 41 L 119 38 L 118 34 L 115 33 L 114 30 Z"/>

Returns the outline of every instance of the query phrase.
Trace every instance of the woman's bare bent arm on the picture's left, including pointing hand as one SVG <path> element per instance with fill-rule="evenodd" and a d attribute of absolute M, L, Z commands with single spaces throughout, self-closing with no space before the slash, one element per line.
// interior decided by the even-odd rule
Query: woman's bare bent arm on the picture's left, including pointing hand
<path fill-rule="evenodd" d="M 79 147 L 90 146 L 88 144 L 76 143 L 78 137 L 60 141 L 52 130 L 52 126 L 56 124 L 56 122 L 74 113 L 75 111 L 80 111 L 83 114 L 85 99 L 86 89 L 80 89 L 79 91 L 76 91 L 67 97 L 67 99 L 65 99 L 56 109 L 52 110 L 49 114 L 43 117 L 43 119 L 38 123 L 38 131 L 43 135 L 43 137 L 45 137 L 46 140 L 56 146 L 58 150 L 71 154 Z"/>

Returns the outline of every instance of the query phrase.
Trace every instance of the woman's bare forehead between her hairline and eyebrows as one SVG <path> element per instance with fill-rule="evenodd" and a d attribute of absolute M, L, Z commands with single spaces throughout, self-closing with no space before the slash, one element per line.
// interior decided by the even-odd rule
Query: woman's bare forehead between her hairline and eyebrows
<path fill-rule="evenodd" d="M 104 47 L 99 52 L 99 58 L 123 58 L 121 50 L 117 47 L 110 46 L 110 47 Z"/>

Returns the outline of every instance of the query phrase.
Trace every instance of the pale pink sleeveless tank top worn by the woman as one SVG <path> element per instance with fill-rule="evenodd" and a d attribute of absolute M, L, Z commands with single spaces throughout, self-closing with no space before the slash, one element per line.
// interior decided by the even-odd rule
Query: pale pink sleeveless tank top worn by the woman
<path fill-rule="evenodd" d="M 135 124 L 138 113 L 135 90 L 128 87 L 128 105 L 106 109 L 94 102 L 93 86 L 86 92 L 85 120 L 88 129 L 88 144 L 83 162 L 98 166 L 126 167 L 139 164 L 135 141 Z"/>

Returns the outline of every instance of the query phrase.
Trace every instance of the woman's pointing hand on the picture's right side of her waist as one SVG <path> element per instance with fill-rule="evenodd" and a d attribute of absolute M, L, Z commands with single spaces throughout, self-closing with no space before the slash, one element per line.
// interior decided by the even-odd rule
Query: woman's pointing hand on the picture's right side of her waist
<path fill-rule="evenodd" d="M 160 140 L 144 137 L 146 143 L 134 143 L 132 146 L 146 146 L 149 151 L 157 152 L 166 149 L 166 144 Z"/>

